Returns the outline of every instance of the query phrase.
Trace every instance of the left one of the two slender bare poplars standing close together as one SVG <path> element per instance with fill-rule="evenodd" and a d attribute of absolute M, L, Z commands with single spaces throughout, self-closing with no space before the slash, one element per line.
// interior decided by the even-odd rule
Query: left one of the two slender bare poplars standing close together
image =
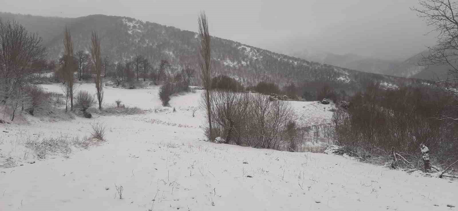
<path fill-rule="evenodd" d="M 70 31 L 68 27 L 65 27 L 64 31 L 64 56 L 63 64 L 61 66 L 61 72 L 64 77 L 67 98 L 70 97 L 70 108 L 73 109 L 73 92 L 75 87 L 74 72 L 76 70 L 76 61 L 73 55 L 73 41 L 71 40 Z M 65 111 L 68 106 L 65 105 Z"/>

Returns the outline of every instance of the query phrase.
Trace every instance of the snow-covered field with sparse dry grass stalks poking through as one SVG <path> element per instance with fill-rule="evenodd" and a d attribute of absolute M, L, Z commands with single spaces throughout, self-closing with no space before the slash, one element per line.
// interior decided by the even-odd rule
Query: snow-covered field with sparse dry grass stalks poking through
<path fill-rule="evenodd" d="M 61 92 L 59 85 L 43 85 Z M 94 93 L 93 84 L 79 90 Z M 0 210 L 218 211 L 440 211 L 456 210 L 456 181 L 425 178 L 341 156 L 254 149 L 203 140 L 200 92 L 172 97 L 160 107 L 158 87 L 107 87 L 105 102 L 160 108 L 141 115 L 76 117 L 71 121 L 0 124 L 3 159 Z M 333 105 L 291 102 L 302 123 L 326 122 Z M 89 136 L 107 125 L 106 142 L 89 149 L 26 156 L 27 139 Z M 27 157 L 27 158 L 26 158 Z M 0 157 L 0 161 L 1 161 Z M 35 163 L 30 164 L 31 160 Z M 32 162 L 33 162 L 32 161 Z M 0 163 L 1 165 L 2 163 Z M 116 187 L 122 186 L 122 199 Z"/>

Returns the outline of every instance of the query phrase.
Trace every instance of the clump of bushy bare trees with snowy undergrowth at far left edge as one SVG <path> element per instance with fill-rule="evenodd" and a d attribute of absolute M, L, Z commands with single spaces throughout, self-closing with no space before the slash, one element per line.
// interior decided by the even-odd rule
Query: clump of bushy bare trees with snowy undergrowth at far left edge
<path fill-rule="evenodd" d="M 0 105 L 11 110 L 37 106 L 35 89 L 28 87 L 33 74 L 41 70 L 46 50 L 42 39 L 17 22 L 0 20 Z M 32 111 L 33 112 L 33 111 Z"/>

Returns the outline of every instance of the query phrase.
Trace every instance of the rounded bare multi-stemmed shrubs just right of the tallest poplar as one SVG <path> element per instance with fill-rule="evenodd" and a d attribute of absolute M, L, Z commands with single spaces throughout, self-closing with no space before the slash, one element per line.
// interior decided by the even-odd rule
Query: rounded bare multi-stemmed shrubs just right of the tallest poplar
<path fill-rule="evenodd" d="M 228 144 L 297 151 L 299 130 L 288 101 L 220 89 L 213 90 L 210 96 L 213 129 L 206 130 L 210 140 L 219 136 Z"/>

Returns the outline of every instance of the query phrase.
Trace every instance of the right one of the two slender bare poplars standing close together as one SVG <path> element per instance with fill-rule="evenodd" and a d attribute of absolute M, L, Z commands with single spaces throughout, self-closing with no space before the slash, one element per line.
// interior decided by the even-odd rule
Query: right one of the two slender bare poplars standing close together
<path fill-rule="evenodd" d="M 97 32 L 92 32 L 91 37 L 91 56 L 95 70 L 95 88 L 97 89 L 98 109 L 102 109 L 102 101 L 104 99 L 104 91 L 102 87 L 102 55 L 100 53 L 100 39 Z"/>

